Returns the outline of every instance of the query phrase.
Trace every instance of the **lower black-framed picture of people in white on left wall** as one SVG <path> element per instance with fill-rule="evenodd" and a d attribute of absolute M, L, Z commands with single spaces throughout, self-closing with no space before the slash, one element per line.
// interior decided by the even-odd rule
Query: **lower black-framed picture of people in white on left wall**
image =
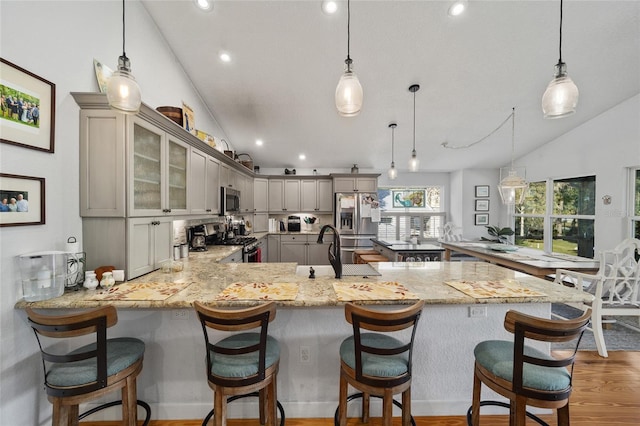
<path fill-rule="evenodd" d="M 44 223 L 44 178 L 0 173 L 0 226 Z"/>

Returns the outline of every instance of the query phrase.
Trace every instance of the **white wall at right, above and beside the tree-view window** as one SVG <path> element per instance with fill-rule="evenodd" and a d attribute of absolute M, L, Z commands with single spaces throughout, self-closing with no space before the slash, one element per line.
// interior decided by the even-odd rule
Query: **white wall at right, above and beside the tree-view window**
<path fill-rule="evenodd" d="M 595 252 L 629 237 L 628 168 L 640 166 L 640 95 L 518 159 L 530 182 L 596 176 Z M 612 202 L 605 205 L 604 195 Z"/>

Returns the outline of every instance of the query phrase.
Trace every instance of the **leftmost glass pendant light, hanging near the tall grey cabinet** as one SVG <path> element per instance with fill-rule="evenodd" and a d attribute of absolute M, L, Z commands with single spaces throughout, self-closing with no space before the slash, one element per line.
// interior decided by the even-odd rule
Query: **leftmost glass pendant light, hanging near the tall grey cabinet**
<path fill-rule="evenodd" d="M 124 49 L 124 0 L 122 0 L 122 56 L 118 58 L 118 69 L 107 82 L 109 105 L 126 114 L 136 114 L 140 110 L 140 87 L 131 74 L 131 63 Z"/>

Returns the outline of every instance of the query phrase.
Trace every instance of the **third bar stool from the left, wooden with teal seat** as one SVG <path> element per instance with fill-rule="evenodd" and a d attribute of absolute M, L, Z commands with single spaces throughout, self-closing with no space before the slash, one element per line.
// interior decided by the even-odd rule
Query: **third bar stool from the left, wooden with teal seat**
<path fill-rule="evenodd" d="M 383 400 L 383 426 L 391 425 L 393 405 L 402 408 L 403 426 L 415 425 L 411 416 L 411 366 L 416 327 L 423 307 L 423 300 L 392 311 L 367 309 L 352 303 L 345 305 L 345 317 L 353 325 L 353 335 L 340 345 L 336 425 L 347 424 L 347 402 L 356 397 L 362 397 L 362 422 L 368 422 L 370 396 Z M 349 385 L 361 393 L 347 397 Z M 393 399 L 398 393 L 402 393 L 402 404 Z"/>

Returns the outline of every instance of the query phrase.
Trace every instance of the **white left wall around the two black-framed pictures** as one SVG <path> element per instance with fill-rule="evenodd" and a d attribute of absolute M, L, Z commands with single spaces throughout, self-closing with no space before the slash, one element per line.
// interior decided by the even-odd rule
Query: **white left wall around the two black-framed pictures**
<path fill-rule="evenodd" d="M 195 111 L 196 127 L 225 137 L 210 116 L 155 23 L 137 1 L 127 1 L 126 52 L 146 104 Z M 93 59 L 112 69 L 122 54 L 122 3 L 118 1 L 2 1 L 0 52 L 56 84 L 55 153 L 0 144 L 0 170 L 46 179 L 46 224 L 0 228 L 0 424 L 50 423 L 42 391 L 40 355 L 23 312 L 16 255 L 62 249 L 81 237 L 78 107 L 70 92 L 97 92 Z"/>

